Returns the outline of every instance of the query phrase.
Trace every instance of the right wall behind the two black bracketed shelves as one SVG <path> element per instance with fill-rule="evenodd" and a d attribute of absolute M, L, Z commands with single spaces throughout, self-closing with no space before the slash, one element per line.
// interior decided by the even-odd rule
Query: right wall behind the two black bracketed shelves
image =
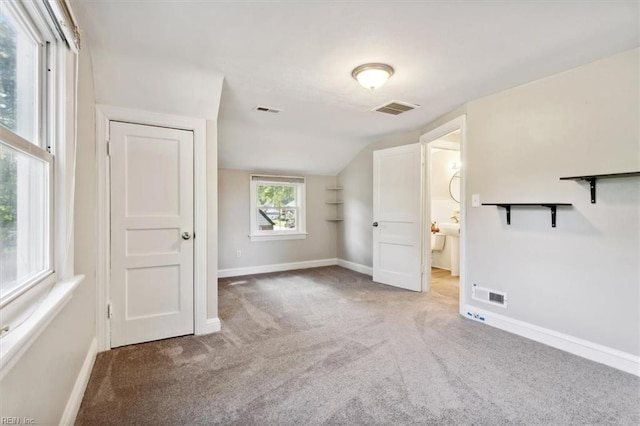
<path fill-rule="evenodd" d="M 507 310 L 477 306 L 640 354 L 640 179 L 598 181 L 597 204 L 558 180 L 640 170 L 639 76 L 636 49 L 468 104 L 468 206 L 573 203 L 555 229 L 544 208 L 513 209 L 510 226 L 467 209 L 466 283 L 508 294 Z"/>

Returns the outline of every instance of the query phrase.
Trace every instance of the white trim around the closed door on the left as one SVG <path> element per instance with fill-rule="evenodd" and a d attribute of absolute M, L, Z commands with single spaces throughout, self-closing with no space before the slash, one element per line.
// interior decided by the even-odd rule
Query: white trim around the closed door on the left
<path fill-rule="evenodd" d="M 194 332 L 206 334 L 220 329 L 217 318 L 207 318 L 207 300 L 217 295 L 207 291 L 207 152 L 206 120 L 159 114 L 109 105 L 96 105 L 96 162 L 97 162 L 97 250 L 96 250 L 96 334 L 98 351 L 111 349 L 110 324 L 107 318 L 109 303 L 109 166 L 107 142 L 109 121 L 125 121 L 160 127 L 193 131 L 194 143 Z M 217 287 L 213 291 L 217 291 Z M 212 297 L 215 296 L 215 297 Z"/>

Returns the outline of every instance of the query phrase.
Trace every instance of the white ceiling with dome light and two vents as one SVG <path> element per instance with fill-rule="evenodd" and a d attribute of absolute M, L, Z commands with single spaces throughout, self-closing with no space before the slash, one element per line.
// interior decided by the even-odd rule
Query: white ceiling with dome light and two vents
<path fill-rule="evenodd" d="M 639 44 L 636 0 L 73 5 L 95 68 L 117 55 L 191 68 L 200 78 L 223 75 L 219 165 L 263 171 L 336 174 L 376 139 Z M 371 93 L 351 78 L 365 62 L 388 63 L 396 73 Z M 194 97 L 200 105 L 207 91 Z M 216 97 L 212 91 L 217 106 Z M 422 108 L 400 116 L 371 112 L 390 100 Z M 215 118 L 209 106 L 194 111 L 197 105 L 184 115 Z M 282 112 L 255 112 L 256 105 Z"/>

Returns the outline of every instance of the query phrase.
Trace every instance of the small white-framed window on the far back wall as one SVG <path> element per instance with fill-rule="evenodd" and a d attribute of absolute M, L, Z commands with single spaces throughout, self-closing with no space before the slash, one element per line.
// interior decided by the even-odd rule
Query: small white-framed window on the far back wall
<path fill-rule="evenodd" d="M 306 238 L 303 177 L 251 175 L 251 241 Z"/>

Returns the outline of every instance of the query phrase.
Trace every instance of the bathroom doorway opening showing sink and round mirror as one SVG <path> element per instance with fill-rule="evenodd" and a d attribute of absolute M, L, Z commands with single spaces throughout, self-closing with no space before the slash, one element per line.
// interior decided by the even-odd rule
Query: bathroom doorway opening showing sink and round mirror
<path fill-rule="evenodd" d="M 464 305 L 464 117 L 423 135 L 423 291 Z"/>

